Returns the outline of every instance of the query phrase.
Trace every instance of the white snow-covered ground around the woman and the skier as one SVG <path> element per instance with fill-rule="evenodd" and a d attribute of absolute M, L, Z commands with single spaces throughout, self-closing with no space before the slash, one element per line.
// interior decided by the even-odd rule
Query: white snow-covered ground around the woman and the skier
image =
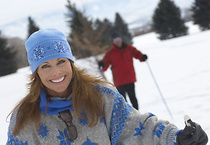
<path fill-rule="evenodd" d="M 188 114 L 210 135 L 210 31 L 200 32 L 192 23 L 188 26 L 190 35 L 167 41 L 158 40 L 155 33 L 134 38 L 134 46 L 148 55 L 148 63 L 134 60 L 138 80 L 136 94 L 141 113 L 151 112 L 180 129 L 185 126 L 183 116 Z M 87 68 L 92 75 L 99 75 L 95 62 L 95 58 L 90 57 L 76 60 L 76 65 Z M 147 65 L 152 69 L 173 119 Z M 7 141 L 7 115 L 27 93 L 29 74 L 30 68 L 25 67 L 17 73 L 0 77 L 0 144 Z M 112 82 L 110 69 L 105 75 Z"/>

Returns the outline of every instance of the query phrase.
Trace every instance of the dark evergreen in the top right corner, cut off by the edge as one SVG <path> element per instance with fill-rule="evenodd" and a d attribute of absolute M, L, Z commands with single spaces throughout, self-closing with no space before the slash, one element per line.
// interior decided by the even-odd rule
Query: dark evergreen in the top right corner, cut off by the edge
<path fill-rule="evenodd" d="M 192 11 L 194 24 L 202 31 L 210 29 L 210 0 L 195 0 Z"/>

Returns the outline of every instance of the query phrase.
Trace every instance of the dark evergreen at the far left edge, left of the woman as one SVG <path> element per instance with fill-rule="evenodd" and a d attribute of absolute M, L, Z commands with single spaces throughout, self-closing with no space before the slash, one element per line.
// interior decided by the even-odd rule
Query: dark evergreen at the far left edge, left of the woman
<path fill-rule="evenodd" d="M 16 52 L 8 46 L 7 39 L 0 32 L 0 76 L 17 71 Z"/>

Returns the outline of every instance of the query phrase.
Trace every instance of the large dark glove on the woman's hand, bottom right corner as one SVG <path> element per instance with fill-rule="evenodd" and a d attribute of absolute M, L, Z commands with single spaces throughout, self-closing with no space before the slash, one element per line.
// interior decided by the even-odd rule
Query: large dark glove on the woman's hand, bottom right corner
<path fill-rule="evenodd" d="M 177 145 L 206 145 L 208 137 L 201 126 L 191 120 L 188 123 L 190 126 L 186 125 L 184 130 L 178 134 Z"/>

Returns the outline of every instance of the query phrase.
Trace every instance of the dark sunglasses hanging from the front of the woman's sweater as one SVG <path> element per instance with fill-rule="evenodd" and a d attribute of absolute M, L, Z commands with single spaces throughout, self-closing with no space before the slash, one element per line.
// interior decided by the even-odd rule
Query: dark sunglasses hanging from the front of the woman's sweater
<path fill-rule="evenodd" d="M 58 117 L 65 122 L 67 129 L 66 129 L 66 136 L 68 140 L 74 140 L 77 138 L 77 129 L 75 125 L 72 123 L 72 115 L 69 110 L 64 110 L 59 112 Z"/>

